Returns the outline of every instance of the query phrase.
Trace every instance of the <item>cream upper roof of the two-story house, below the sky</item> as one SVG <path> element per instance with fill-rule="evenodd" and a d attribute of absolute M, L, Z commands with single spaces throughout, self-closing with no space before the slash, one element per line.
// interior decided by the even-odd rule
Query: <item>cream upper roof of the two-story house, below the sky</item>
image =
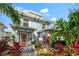
<path fill-rule="evenodd" d="M 32 10 L 17 10 L 21 17 L 24 17 L 26 20 L 29 18 L 29 20 L 37 20 L 40 23 L 49 24 L 51 23 L 50 20 L 43 17 L 42 14 L 32 11 Z M 35 18 L 35 19 L 34 19 Z"/>

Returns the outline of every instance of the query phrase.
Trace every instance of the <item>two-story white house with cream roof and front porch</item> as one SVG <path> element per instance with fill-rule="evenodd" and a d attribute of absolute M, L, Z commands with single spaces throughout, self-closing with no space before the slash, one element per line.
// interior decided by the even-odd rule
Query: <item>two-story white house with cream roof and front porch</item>
<path fill-rule="evenodd" d="M 32 10 L 19 10 L 18 12 L 21 16 L 20 25 L 11 25 L 13 30 L 17 33 L 16 37 L 18 41 L 31 40 L 32 33 L 35 30 L 42 30 L 50 24 L 48 20 L 43 18 L 42 14 Z"/>

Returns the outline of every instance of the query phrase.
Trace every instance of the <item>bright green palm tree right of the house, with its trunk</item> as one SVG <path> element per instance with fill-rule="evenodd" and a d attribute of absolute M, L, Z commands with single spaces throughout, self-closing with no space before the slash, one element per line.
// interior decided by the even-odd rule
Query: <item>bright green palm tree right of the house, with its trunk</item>
<path fill-rule="evenodd" d="M 55 29 L 52 33 L 53 40 L 57 39 L 57 36 L 62 36 L 66 42 L 66 49 L 64 51 L 69 52 L 71 51 L 71 44 L 72 44 L 72 31 L 69 28 L 69 22 L 65 21 L 63 18 L 59 19 L 55 23 Z"/>

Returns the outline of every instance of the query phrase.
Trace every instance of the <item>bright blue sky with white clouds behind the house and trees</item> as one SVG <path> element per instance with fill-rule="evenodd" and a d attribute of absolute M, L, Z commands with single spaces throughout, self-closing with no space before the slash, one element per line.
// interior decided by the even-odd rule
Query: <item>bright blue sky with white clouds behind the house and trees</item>
<path fill-rule="evenodd" d="M 13 3 L 13 7 L 20 10 L 33 10 L 43 14 L 43 17 L 55 21 L 59 18 L 68 19 L 69 10 L 75 4 L 71 3 Z M 7 26 L 9 31 L 12 31 L 10 24 L 11 19 L 4 14 L 0 14 L 0 20 Z"/>

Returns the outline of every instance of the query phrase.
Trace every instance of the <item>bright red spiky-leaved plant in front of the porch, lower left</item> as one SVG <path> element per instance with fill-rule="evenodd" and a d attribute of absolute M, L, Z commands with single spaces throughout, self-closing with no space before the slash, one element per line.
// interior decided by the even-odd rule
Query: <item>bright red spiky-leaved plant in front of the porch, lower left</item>
<path fill-rule="evenodd" d="M 13 43 L 13 45 L 10 48 L 10 54 L 12 56 L 20 56 L 21 55 L 21 43 L 20 42 Z"/>

